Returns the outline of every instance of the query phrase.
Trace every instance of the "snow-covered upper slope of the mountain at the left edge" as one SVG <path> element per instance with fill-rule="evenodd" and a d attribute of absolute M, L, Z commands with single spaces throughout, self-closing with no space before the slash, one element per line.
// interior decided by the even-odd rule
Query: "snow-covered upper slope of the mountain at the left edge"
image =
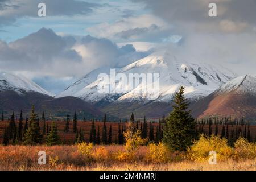
<path fill-rule="evenodd" d="M 28 80 L 26 77 L 7 72 L 0 72 L 0 92 L 5 90 L 14 90 L 18 93 L 38 92 L 48 96 L 55 96 L 55 94 L 49 93 L 35 82 Z"/>

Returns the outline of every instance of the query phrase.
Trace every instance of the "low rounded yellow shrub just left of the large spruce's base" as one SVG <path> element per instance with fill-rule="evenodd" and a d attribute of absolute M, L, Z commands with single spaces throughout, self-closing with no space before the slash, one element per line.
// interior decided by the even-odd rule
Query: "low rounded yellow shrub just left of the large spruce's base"
<path fill-rule="evenodd" d="M 150 143 L 149 150 L 146 154 L 146 160 L 152 163 L 163 163 L 168 161 L 169 156 L 170 151 L 162 142 L 159 142 L 158 144 Z"/>

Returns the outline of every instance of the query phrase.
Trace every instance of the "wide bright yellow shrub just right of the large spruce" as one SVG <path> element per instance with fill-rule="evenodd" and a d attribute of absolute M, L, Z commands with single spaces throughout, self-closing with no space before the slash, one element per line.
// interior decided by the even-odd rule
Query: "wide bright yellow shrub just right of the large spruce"
<path fill-rule="evenodd" d="M 200 135 L 200 139 L 194 142 L 188 149 L 187 158 L 189 160 L 204 162 L 209 159 L 210 151 L 217 153 L 217 160 L 229 159 L 233 154 L 233 150 L 228 146 L 228 140 L 226 138 L 220 138 L 215 135 L 211 137 Z"/>

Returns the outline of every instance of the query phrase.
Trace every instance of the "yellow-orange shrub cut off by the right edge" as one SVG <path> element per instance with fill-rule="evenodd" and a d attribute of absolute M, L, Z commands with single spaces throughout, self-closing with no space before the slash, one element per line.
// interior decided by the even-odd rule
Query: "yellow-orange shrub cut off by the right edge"
<path fill-rule="evenodd" d="M 248 142 L 245 138 L 238 138 L 234 143 L 234 158 L 235 159 L 255 159 L 256 144 Z"/>

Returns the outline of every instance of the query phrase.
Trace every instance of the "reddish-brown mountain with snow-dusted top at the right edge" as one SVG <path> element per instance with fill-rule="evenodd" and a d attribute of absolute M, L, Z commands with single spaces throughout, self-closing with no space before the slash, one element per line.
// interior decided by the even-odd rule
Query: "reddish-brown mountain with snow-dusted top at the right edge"
<path fill-rule="evenodd" d="M 191 106 L 194 117 L 219 115 L 255 119 L 256 78 L 245 75 L 234 78 L 209 96 Z"/>

